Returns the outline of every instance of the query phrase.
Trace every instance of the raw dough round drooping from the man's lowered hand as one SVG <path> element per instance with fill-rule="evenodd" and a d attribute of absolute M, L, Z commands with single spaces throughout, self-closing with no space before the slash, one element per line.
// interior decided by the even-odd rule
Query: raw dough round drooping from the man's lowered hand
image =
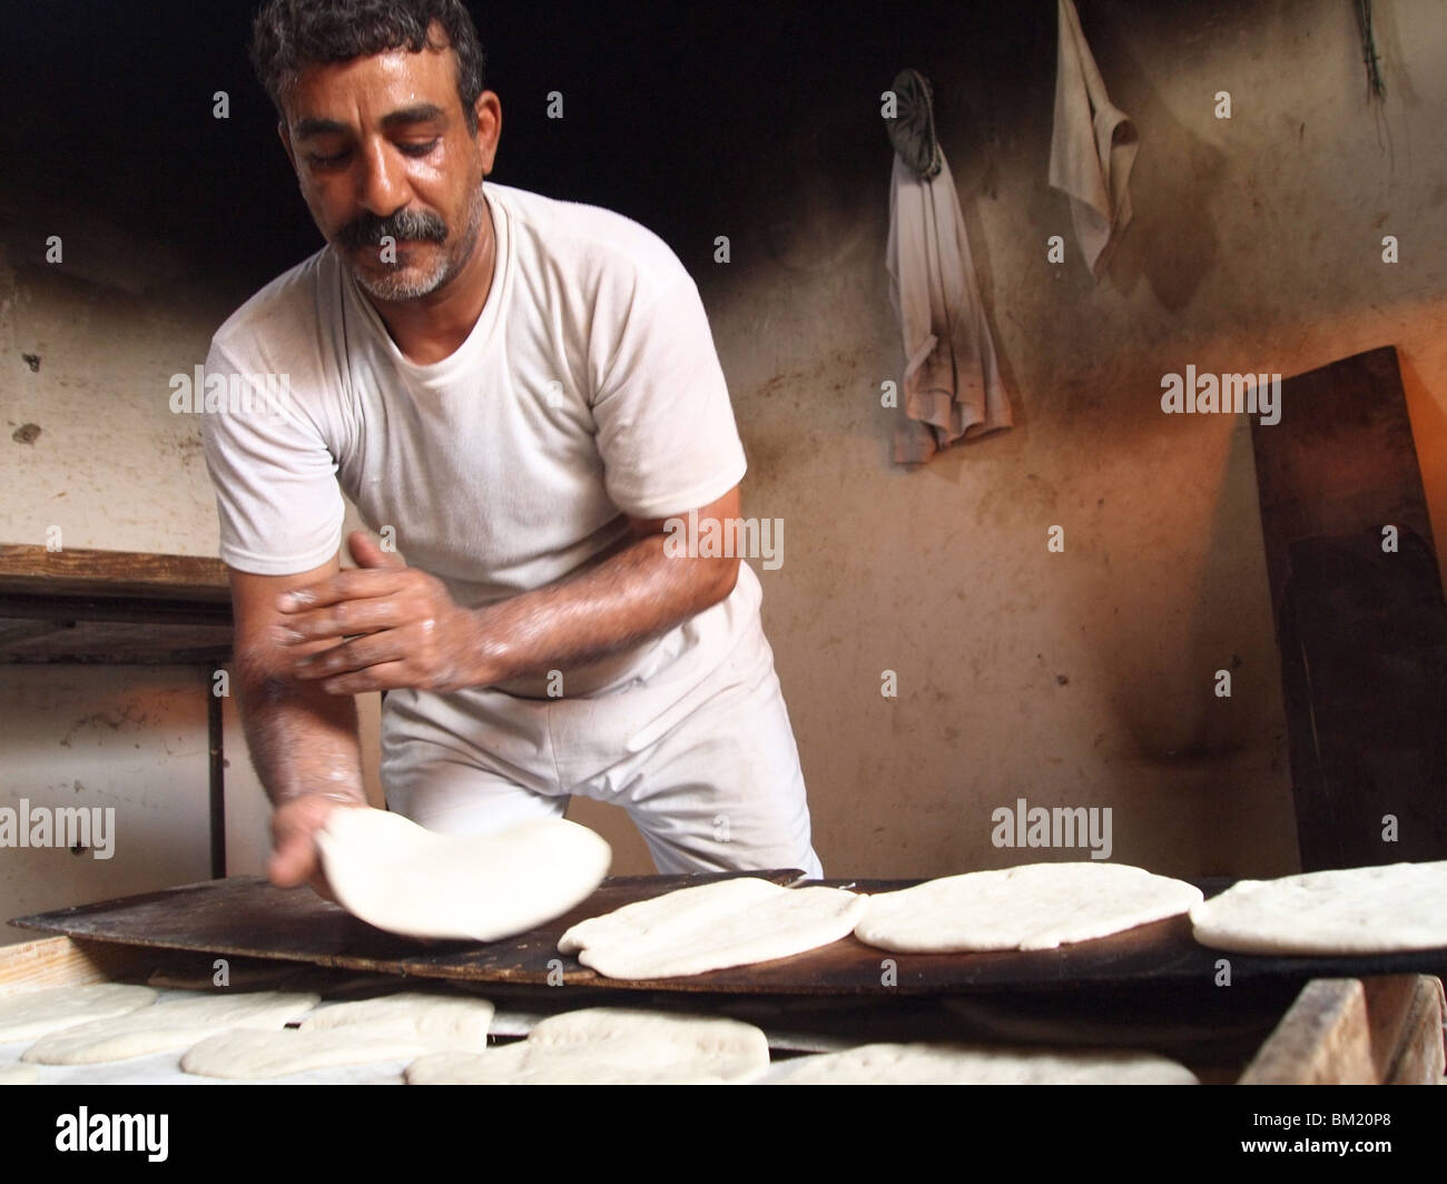
<path fill-rule="evenodd" d="M 544 818 L 498 835 L 443 835 L 399 813 L 339 806 L 317 832 L 337 900 L 378 929 L 498 941 L 561 916 L 608 874 L 608 844 Z"/>

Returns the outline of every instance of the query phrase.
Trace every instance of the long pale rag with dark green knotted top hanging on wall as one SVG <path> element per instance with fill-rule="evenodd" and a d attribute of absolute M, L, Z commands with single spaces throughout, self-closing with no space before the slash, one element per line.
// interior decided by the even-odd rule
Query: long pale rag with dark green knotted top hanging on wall
<path fill-rule="evenodd" d="M 896 94 L 922 96 L 928 104 L 928 84 L 907 90 L 904 83 L 901 74 Z M 904 103 L 900 114 L 907 117 L 901 126 L 913 129 L 912 143 L 904 146 L 926 175 L 904 162 L 897 142 L 884 250 L 890 304 L 900 321 L 906 359 L 901 384 L 906 418 L 894 431 L 894 460 L 923 465 L 956 440 L 972 440 L 1014 421 L 980 304 L 949 161 L 935 142 L 932 119 L 919 117 L 917 110 L 907 111 Z M 891 135 L 891 142 L 896 140 Z"/>

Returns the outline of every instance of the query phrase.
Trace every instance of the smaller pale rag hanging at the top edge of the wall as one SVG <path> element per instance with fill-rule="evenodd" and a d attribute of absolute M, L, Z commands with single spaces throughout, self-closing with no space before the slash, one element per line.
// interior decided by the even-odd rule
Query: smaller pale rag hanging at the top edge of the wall
<path fill-rule="evenodd" d="M 1130 224 L 1130 166 L 1140 146 L 1130 116 L 1113 106 L 1081 32 L 1074 0 L 1056 0 L 1061 48 L 1055 62 L 1051 188 L 1071 198 L 1075 240 L 1095 279 Z"/>

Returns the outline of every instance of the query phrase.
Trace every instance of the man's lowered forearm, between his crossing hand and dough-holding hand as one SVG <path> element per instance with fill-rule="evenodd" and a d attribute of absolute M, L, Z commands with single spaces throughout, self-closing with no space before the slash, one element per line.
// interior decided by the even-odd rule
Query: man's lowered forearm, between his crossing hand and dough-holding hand
<path fill-rule="evenodd" d="M 243 667 L 239 682 L 246 744 L 273 805 L 304 793 L 366 802 L 350 695 L 256 667 Z"/>

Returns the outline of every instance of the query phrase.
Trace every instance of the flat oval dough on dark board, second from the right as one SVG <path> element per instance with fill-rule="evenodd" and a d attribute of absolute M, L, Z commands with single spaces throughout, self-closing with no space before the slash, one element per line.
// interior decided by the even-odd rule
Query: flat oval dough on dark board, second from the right
<path fill-rule="evenodd" d="M 1053 950 L 1187 912 L 1201 890 L 1113 863 L 1033 863 L 870 897 L 854 935 L 899 954 Z"/>

